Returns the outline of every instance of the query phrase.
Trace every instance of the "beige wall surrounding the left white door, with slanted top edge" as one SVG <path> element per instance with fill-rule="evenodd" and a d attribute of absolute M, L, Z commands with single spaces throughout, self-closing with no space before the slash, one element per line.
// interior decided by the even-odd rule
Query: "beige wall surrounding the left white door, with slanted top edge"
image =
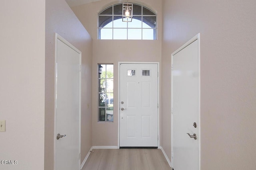
<path fill-rule="evenodd" d="M 54 167 L 55 33 L 82 52 L 81 163 L 92 147 L 92 39 L 64 0 L 46 0 L 45 170 Z"/>

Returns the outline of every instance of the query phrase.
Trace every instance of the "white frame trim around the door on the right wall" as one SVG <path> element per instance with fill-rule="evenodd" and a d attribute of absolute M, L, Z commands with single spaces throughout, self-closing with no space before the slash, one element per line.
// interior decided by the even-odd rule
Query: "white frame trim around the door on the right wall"
<path fill-rule="evenodd" d="M 198 57 L 199 57 L 199 101 L 201 101 L 200 96 L 201 96 L 201 91 L 200 91 L 200 33 L 198 33 L 197 35 L 195 35 L 192 39 L 190 39 L 188 42 L 186 42 L 184 45 L 182 45 L 180 48 L 178 48 L 176 51 L 174 51 L 171 54 L 171 67 L 172 67 L 172 63 L 173 63 L 173 57 L 174 55 L 176 55 L 178 52 L 182 51 L 184 48 L 186 48 L 188 45 L 192 44 L 194 41 L 198 40 Z M 171 71 L 171 166 L 173 164 L 173 115 L 172 115 L 172 107 L 173 107 L 173 89 L 172 89 L 172 83 L 173 83 L 173 79 L 172 79 L 172 71 Z M 199 115 L 198 115 L 198 148 L 199 148 L 199 170 L 200 170 L 200 164 L 201 164 L 201 122 L 200 122 L 200 104 L 201 102 L 199 102 Z"/>

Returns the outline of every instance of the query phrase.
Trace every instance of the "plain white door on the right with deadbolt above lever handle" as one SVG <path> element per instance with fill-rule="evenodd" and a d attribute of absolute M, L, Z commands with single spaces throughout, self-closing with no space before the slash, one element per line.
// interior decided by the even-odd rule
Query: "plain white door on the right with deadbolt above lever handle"
<path fill-rule="evenodd" d="M 172 167 L 174 170 L 200 170 L 199 127 L 200 61 L 197 39 L 172 55 Z M 190 137 L 187 133 L 195 134 L 197 138 L 191 138 L 193 136 Z"/>

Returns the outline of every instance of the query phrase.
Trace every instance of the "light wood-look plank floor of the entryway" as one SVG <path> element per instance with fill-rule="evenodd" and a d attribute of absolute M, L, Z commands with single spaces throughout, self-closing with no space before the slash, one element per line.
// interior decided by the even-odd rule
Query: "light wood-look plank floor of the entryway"
<path fill-rule="evenodd" d="M 82 170 L 171 170 L 160 149 L 93 149 Z"/>

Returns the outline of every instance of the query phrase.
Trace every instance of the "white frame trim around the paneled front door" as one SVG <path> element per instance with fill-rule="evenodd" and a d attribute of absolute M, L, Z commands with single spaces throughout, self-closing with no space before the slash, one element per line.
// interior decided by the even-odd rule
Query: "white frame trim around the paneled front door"
<path fill-rule="evenodd" d="M 157 102 L 158 102 L 158 149 L 160 149 L 160 62 L 118 62 L 118 141 L 117 146 L 120 147 L 120 64 L 157 64 L 158 80 L 157 80 Z"/>

